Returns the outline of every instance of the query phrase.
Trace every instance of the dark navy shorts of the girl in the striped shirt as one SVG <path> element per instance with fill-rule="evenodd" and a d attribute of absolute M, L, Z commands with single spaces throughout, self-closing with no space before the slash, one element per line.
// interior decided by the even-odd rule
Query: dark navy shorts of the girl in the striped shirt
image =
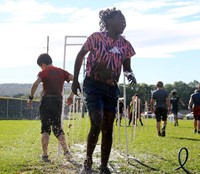
<path fill-rule="evenodd" d="M 86 77 L 83 82 L 84 99 L 89 113 L 103 110 L 116 113 L 119 88 Z"/>

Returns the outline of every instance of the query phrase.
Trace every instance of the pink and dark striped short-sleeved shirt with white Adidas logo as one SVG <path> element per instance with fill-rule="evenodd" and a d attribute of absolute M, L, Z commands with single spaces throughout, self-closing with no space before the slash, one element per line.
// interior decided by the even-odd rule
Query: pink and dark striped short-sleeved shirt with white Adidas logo
<path fill-rule="evenodd" d="M 86 65 L 87 76 L 107 84 L 118 82 L 124 60 L 135 55 L 129 41 L 121 35 L 113 40 L 107 32 L 93 33 L 84 46 L 90 52 Z"/>

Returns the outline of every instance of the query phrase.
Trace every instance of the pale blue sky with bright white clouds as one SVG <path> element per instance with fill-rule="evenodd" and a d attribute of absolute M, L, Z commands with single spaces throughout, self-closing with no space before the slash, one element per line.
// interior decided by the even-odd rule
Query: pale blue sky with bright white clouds
<path fill-rule="evenodd" d="M 0 84 L 33 83 L 46 52 L 73 74 L 81 45 L 99 31 L 99 11 L 113 7 L 126 18 L 138 83 L 200 81 L 200 0 L 0 0 Z"/>

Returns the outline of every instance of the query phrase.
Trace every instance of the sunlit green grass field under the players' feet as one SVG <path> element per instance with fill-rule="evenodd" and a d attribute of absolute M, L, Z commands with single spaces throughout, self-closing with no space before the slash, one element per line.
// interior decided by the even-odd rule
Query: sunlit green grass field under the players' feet
<path fill-rule="evenodd" d="M 189 158 L 185 168 L 191 173 L 200 173 L 200 135 L 193 133 L 192 120 L 179 120 L 178 127 L 168 122 L 166 137 L 158 137 L 155 119 L 143 120 L 144 126 L 118 128 L 114 125 L 112 151 L 125 158 L 112 158 L 110 164 L 117 165 L 118 173 L 185 173 L 179 167 L 178 151 L 186 147 Z M 124 124 L 124 122 L 123 122 Z M 74 119 L 64 122 L 64 131 L 70 147 L 86 143 L 89 119 L 76 115 Z M 41 135 L 39 120 L 1 120 L 0 121 L 0 173 L 73 173 L 69 165 L 64 165 L 63 156 L 57 155 L 58 142 L 51 135 L 49 153 L 53 163 L 41 162 Z M 80 149 L 77 149 L 77 151 Z M 76 153 L 73 149 L 72 153 Z M 85 151 L 82 152 L 85 155 Z M 128 156 L 126 154 L 128 153 Z M 152 170 L 132 157 L 137 158 Z M 100 154 L 98 154 L 100 159 Z M 98 159 L 98 160 L 99 160 Z M 126 159 L 129 159 L 129 163 Z M 185 159 L 185 152 L 181 155 Z M 76 159 L 82 165 L 83 160 Z M 94 162 L 97 163 L 97 162 Z M 97 164 L 96 164 L 97 165 Z M 76 172 L 74 172 L 76 173 Z M 78 172 L 77 172 L 78 173 Z"/>

